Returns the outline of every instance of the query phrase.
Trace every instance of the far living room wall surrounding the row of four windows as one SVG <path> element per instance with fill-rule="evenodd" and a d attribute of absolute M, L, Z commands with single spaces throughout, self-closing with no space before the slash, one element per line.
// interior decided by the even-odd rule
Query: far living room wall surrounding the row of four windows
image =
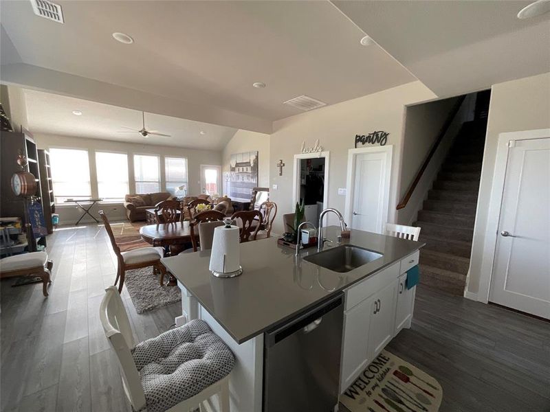
<path fill-rule="evenodd" d="M 90 179 L 91 179 L 91 196 L 97 197 L 97 177 L 96 177 L 96 150 L 125 152 L 128 154 L 129 168 L 129 186 L 130 192 L 135 193 L 135 183 L 133 181 L 133 155 L 158 155 L 160 157 L 160 177 L 161 190 L 165 190 L 164 180 L 164 156 L 186 157 L 188 161 L 188 193 L 201 193 L 200 184 L 200 165 L 221 165 L 221 152 L 218 150 L 193 150 L 187 148 L 176 148 L 168 146 L 153 146 L 145 144 L 129 144 L 119 141 L 107 141 L 100 139 L 85 139 L 82 137 L 69 137 L 57 135 L 45 135 L 36 133 L 34 139 L 39 148 L 83 148 L 88 150 L 90 161 Z M 94 212 L 103 208 L 107 216 L 111 219 L 125 218 L 124 208 L 118 204 L 102 204 L 94 207 Z M 80 216 L 79 209 L 74 206 L 60 205 L 56 207 L 57 213 L 60 214 L 61 223 L 75 222 Z M 91 222 L 91 218 L 83 220 L 83 222 Z"/>

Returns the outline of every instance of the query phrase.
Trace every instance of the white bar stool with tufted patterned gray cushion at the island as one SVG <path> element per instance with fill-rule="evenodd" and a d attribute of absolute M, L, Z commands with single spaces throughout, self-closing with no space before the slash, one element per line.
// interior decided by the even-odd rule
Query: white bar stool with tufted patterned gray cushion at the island
<path fill-rule="evenodd" d="M 217 394 L 219 411 L 229 412 L 235 358 L 208 323 L 195 319 L 137 343 L 115 286 L 105 289 L 99 316 L 133 411 L 205 411 L 204 403 Z"/>

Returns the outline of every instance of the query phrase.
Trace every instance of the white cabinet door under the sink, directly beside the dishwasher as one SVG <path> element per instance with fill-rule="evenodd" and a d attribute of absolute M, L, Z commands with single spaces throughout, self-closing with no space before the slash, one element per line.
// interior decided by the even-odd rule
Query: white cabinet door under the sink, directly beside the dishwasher
<path fill-rule="evenodd" d="M 370 297 L 344 313 L 340 393 L 353 383 L 353 380 L 370 361 L 368 356 L 369 323 L 372 306 L 373 297 Z"/>

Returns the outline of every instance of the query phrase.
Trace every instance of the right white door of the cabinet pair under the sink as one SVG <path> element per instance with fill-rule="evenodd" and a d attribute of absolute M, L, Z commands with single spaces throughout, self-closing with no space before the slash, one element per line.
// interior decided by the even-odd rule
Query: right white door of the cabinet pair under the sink
<path fill-rule="evenodd" d="M 397 282 L 394 281 L 373 296 L 369 327 L 369 359 L 375 358 L 393 338 L 396 288 Z"/>

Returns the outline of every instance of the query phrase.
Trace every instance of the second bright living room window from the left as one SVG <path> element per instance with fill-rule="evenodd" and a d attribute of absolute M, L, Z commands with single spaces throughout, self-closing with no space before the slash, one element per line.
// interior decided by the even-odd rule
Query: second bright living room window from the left
<path fill-rule="evenodd" d="M 98 194 L 106 201 L 122 201 L 128 188 L 128 156 L 124 153 L 96 152 Z"/>

